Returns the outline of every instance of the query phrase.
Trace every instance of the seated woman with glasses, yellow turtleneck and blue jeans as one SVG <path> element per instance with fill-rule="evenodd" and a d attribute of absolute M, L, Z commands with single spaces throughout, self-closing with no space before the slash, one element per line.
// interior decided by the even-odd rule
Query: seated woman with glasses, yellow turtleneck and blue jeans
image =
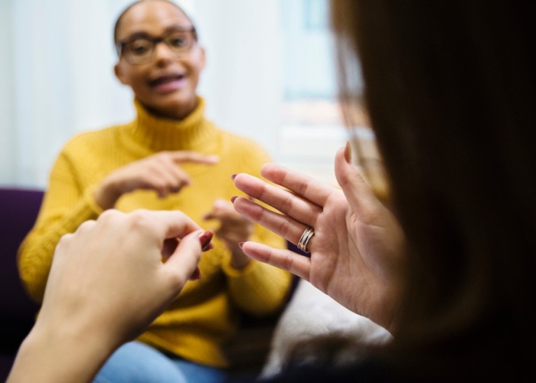
<path fill-rule="evenodd" d="M 269 157 L 204 118 L 204 100 L 196 94 L 204 50 L 181 8 L 166 0 L 137 1 L 117 20 L 114 40 L 114 71 L 133 90 L 137 117 L 66 144 L 20 248 L 20 274 L 41 301 L 64 234 L 107 209 L 183 211 L 216 234 L 214 250 L 200 261 L 200 279 L 187 283 L 137 342 L 112 355 L 97 379 L 218 382 L 228 367 L 222 347 L 237 331 L 239 313 L 274 313 L 290 287 L 290 273 L 253 261 L 239 248 L 248 239 L 281 248 L 283 239 L 241 218 L 230 203 L 236 193 L 230 175 L 258 174 Z"/>

